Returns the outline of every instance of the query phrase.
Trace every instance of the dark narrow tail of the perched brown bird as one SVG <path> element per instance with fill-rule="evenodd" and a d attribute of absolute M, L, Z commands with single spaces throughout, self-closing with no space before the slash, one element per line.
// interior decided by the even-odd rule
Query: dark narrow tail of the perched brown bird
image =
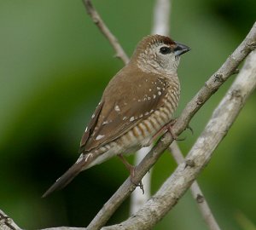
<path fill-rule="evenodd" d="M 83 154 L 82 154 L 83 155 Z M 73 164 L 69 170 L 67 170 L 66 173 L 64 173 L 63 175 L 61 175 L 61 177 L 55 181 L 55 183 L 49 187 L 49 189 L 44 193 L 44 195 L 42 196 L 42 198 L 45 198 L 47 196 L 49 196 L 50 193 L 55 192 L 56 190 L 61 190 L 63 187 L 66 187 L 67 184 L 73 180 L 73 178 L 76 175 L 79 175 L 79 173 L 84 170 L 84 165 L 88 164 L 89 162 L 84 161 L 84 156 L 81 155 L 81 160 L 77 161 L 75 164 Z M 80 159 L 79 158 L 79 159 Z"/>

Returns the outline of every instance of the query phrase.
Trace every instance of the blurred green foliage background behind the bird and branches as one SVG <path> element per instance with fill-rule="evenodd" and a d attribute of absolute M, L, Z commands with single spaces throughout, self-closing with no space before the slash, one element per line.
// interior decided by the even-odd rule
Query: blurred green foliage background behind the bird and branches
<path fill-rule="evenodd" d="M 131 55 L 150 32 L 154 1 L 94 3 Z M 241 43 L 255 9 L 254 0 L 173 1 L 172 37 L 192 48 L 179 68 L 177 115 Z M 0 209 L 26 229 L 86 226 L 128 175 L 118 159 L 86 170 L 49 198 L 40 197 L 78 158 L 90 115 L 123 64 L 113 59 L 113 49 L 80 0 L 0 0 L 0 31 Z M 185 132 L 187 139 L 180 142 L 184 153 L 234 78 L 193 118 L 195 135 Z M 246 216 L 242 220 L 256 222 L 255 99 L 254 93 L 199 177 L 223 229 L 241 229 L 237 210 Z M 154 167 L 153 193 L 175 167 L 166 152 Z M 128 214 L 129 200 L 108 223 Z M 187 193 L 154 229 L 207 227 Z"/>

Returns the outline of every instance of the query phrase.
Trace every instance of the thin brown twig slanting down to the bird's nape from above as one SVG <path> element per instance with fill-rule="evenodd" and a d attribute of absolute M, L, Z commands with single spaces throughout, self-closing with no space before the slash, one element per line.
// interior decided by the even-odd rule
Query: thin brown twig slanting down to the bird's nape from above
<path fill-rule="evenodd" d="M 109 43 L 111 43 L 113 49 L 116 52 L 116 57 L 118 57 L 120 60 L 123 60 L 125 64 L 129 62 L 128 56 L 125 54 L 124 49 L 120 46 L 118 40 L 116 37 L 113 36 L 113 33 L 109 31 L 108 26 L 104 23 L 102 20 L 100 14 L 96 11 L 96 9 L 93 7 L 90 0 L 83 0 L 85 9 L 87 10 L 87 13 L 90 15 L 90 18 L 93 20 L 93 22 L 98 26 L 99 30 L 102 32 L 102 34 L 107 37 Z"/>

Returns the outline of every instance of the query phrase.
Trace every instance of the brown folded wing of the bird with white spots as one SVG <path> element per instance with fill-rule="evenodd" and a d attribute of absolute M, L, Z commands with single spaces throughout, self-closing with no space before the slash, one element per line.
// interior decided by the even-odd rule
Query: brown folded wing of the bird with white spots
<path fill-rule="evenodd" d="M 165 78 L 131 70 L 119 72 L 108 83 L 80 144 L 80 152 L 91 152 L 125 134 L 150 113 L 163 106 L 168 83 Z"/>

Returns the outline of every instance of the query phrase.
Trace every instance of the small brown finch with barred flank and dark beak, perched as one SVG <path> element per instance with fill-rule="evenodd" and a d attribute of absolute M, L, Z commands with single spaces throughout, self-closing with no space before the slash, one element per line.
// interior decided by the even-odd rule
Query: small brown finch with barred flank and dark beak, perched
<path fill-rule="evenodd" d="M 66 187 L 83 170 L 149 146 L 166 132 L 180 97 L 177 67 L 190 48 L 162 35 L 148 35 L 131 60 L 110 80 L 80 141 L 79 158 L 44 193 Z"/>

